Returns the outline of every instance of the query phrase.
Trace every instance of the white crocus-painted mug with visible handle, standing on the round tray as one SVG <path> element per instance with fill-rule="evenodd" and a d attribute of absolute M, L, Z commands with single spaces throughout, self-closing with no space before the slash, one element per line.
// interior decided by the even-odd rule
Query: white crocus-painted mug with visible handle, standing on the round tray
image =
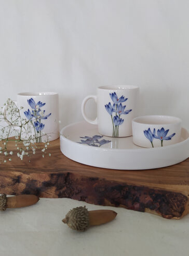
<path fill-rule="evenodd" d="M 110 137 L 127 137 L 132 135 L 132 119 L 136 116 L 138 86 L 114 85 L 101 86 L 97 96 L 89 95 L 82 103 L 84 119 L 91 124 L 98 124 L 100 134 Z M 86 116 L 85 108 L 89 99 L 97 103 L 97 118 L 91 120 Z"/>

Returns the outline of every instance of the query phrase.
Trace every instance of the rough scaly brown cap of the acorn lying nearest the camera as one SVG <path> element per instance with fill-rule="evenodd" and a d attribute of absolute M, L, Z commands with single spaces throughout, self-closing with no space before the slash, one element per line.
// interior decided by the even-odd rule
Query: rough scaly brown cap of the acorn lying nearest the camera
<path fill-rule="evenodd" d="M 89 226 L 88 210 L 85 206 L 73 208 L 66 214 L 65 219 L 62 221 L 76 231 L 86 231 Z"/>

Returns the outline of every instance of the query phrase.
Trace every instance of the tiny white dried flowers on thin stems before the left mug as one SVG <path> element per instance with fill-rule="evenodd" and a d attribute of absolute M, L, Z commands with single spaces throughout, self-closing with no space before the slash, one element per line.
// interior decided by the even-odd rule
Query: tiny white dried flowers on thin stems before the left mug
<path fill-rule="evenodd" d="M 48 138 L 50 138 L 50 136 L 48 136 L 44 132 L 41 132 L 39 137 L 38 137 L 38 134 L 37 134 L 37 136 L 36 136 L 36 134 L 34 135 L 33 134 L 34 127 L 32 124 L 33 120 L 24 119 L 24 117 L 21 117 L 22 115 L 20 113 L 21 113 L 21 110 L 23 109 L 23 106 L 20 106 L 18 108 L 16 106 L 15 102 L 12 101 L 10 98 L 7 99 L 7 101 L 4 104 L 4 107 L 2 107 L 2 109 L 3 108 L 5 110 L 7 110 L 7 115 L 9 117 L 8 125 L 6 125 L 5 127 L 4 127 L 4 125 L 1 125 L 1 127 L 0 127 L 0 133 L 3 134 L 2 137 L 5 139 L 4 142 L 2 142 L 3 146 L 1 145 L 2 147 L 0 147 L 0 153 L 2 153 L 4 155 L 5 162 L 11 161 L 11 156 L 13 155 L 13 151 L 8 152 L 6 149 L 9 144 L 9 138 L 8 138 L 9 135 L 15 136 L 14 144 L 16 146 L 15 148 L 17 148 L 17 150 L 18 150 L 16 152 L 16 155 L 21 160 L 23 159 L 23 157 L 25 155 L 30 156 L 31 151 L 33 154 L 35 154 L 35 152 L 37 150 L 37 146 L 34 143 L 38 142 L 38 139 L 41 138 L 42 134 L 45 135 L 46 139 L 43 139 L 43 142 L 45 143 L 44 148 L 41 149 L 43 152 L 42 157 L 44 158 L 46 149 L 48 148 L 48 145 L 49 145 Z M 5 120 L 7 122 L 6 116 L 2 109 L 0 111 L 0 116 L 1 116 L 0 121 Z M 38 106 L 36 106 L 36 108 L 34 107 L 33 110 L 30 109 L 30 111 L 31 112 L 33 111 L 36 120 L 38 120 L 41 123 L 41 119 L 43 119 L 43 117 L 45 115 L 45 110 L 42 110 L 41 108 L 39 108 L 39 105 L 38 105 Z M 61 122 L 59 122 L 59 123 L 61 123 Z M 15 128 L 15 126 L 17 126 L 17 129 L 20 130 L 19 132 Z M 20 139 L 22 137 L 24 137 L 25 140 Z M 50 156 L 51 156 L 51 154 L 49 153 L 49 157 Z"/>

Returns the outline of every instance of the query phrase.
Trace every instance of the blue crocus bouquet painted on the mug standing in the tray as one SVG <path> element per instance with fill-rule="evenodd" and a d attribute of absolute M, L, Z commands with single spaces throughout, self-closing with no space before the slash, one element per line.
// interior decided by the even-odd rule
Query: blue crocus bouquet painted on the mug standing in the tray
<path fill-rule="evenodd" d="M 113 101 L 113 105 L 109 102 L 109 104 L 105 105 L 106 111 L 110 114 L 112 119 L 112 125 L 113 125 L 113 132 L 112 137 L 119 137 L 119 125 L 122 125 L 124 122 L 123 117 L 120 118 L 123 114 L 128 114 L 132 109 L 125 110 L 126 105 L 123 106 L 122 103 L 124 103 L 128 98 L 125 98 L 125 96 L 121 96 L 118 98 L 117 94 L 110 93 L 110 98 Z"/>

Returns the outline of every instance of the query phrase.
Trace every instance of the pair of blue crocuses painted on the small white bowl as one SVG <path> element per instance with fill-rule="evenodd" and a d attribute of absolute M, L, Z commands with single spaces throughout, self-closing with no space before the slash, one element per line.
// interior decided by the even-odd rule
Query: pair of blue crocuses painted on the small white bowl
<path fill-rule="evenodd" d="M 146 136 L 147 139 L 150 140 L 152 147 L 153 146 L 153 139 L 159 139 L 161 141 L 161 147 L 163 147 L 163 142 L 164 140 L 170 140 L 174 135 L 176 135 L 176 133 L 173 133 L 171 135 L 168 136 L 168 130 L 165 130 L 164 127 L 162 127 L 161 129 L 157 130 L 157 134 L 156 131 L 154 129 L 153 133 L 151 132 L 151 129 L 149 128 L 148 130 L 144 130 L 144 135 Z"/>

